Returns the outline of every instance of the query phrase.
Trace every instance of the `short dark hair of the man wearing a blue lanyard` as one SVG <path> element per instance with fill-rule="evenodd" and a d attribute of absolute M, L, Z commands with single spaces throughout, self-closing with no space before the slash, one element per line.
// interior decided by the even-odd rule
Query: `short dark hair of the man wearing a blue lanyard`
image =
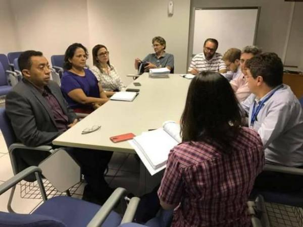
<path fill-rule="evenodd" d="M 269 87 L 276 87 L 283 83 L 283 63 L 279 56 L 273 52 L 258 54 L 246 61 L 245 66 L 249 69 L 252 77 L 263 77 L 263 81 Z"/>

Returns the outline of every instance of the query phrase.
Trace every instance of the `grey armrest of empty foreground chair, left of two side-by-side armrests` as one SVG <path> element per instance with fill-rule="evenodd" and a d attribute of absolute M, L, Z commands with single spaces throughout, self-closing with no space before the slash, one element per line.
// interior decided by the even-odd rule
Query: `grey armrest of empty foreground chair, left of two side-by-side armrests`
<path fill-rule="evenodd" d="M 101 226 L 107 216 L 113 210 L 119 199 L 126 194 L 126 189 L 117 188 L 108 200 L 103 204 L 99 211 L 89 221 L 87 227 Z"/>

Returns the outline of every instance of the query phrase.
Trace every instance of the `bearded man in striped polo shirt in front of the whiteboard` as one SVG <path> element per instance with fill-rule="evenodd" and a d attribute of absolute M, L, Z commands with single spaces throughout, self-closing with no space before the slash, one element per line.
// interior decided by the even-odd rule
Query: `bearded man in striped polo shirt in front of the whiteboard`
<path fill-rule="evenodd" d="M 222 60 L 222 54 L 216 52 L 218 41 L 213 38 L 208 38 L 205 40 L 203 47 L 203 53 L 199 53 L 192 58 L 188 73 L 197 75 L 204 70 L 226 73 L 226 66 Z"/>

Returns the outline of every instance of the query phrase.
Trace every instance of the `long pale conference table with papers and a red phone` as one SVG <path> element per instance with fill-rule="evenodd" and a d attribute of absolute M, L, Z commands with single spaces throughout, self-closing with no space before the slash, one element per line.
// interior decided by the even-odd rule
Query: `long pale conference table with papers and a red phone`
<path fill-rule="evenodd" d="M 131 83 L 127 87 L 140 89 L 132 102 L 109 100 L 56 138 L 53 144 L 135 153 L 128 141 L 113 143 L 110 137 L 125 133 L 140 135 L 149 129 L 160 128 L 165 121 L 179 122 L 190 81 L 179 74 L 170 74 L 169 78 L 149 78 L 144 73 L 135 80 L 141 86 L 136 87 Z M 81 134 L 84 129 L 93 126 L 101 128 L 89 134 Z"/>

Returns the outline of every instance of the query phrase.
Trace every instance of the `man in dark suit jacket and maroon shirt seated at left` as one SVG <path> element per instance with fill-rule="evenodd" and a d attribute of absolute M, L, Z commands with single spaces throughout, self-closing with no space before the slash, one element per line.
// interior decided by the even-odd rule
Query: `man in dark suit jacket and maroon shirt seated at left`
<path fill-rule="evenodd" d="M 52 80 L 46 58 L 39 51 L 28 50 L 18 59 L 22 80 L 6 96 L 6 112 L 17 139 L 27 146 L 51 145 L 52 141 L 77 118 L 65 101 L 60 87 Z M 83 199 L 103 204 L 112 193 L 104 171 L 112 152 L 66 148 L 80 164 L 87 182 Z M 38 165 L 49 153 L 19 151 L 27 165 Z"/>

